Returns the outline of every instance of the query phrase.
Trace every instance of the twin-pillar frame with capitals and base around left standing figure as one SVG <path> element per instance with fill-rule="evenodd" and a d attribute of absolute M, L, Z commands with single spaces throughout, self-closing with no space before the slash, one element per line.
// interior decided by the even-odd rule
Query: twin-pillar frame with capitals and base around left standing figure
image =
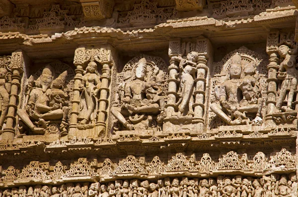
<path fill-rule="evenodd" d="M 109 106 L 109 85 L 111 81 L 111 67 L 114 65 L 114 59 L 112 58 L 113 48 L 109 45 L 100 46 L 98 48 L 77 48 L 75 50 L 74 65 L 76 66 L 74 77 L 74 97 L 72 100 L 73 110 L 71 112 L 71 123 L 68 138 L 72 139 L 74 136 L 87 136 L 97 138 L 98 136 L 106 136 L 106 120 L 107 120 L 107 108 Z M 86 66 L 90 62 L 99 63 L 101 68 L 101 75 L 99 79 L 101 85 L 98 88 L 99 98 L 97 99 L 98 105 L 96 114 L 97 119 L 95 124 L 81 124 L 78 123 L 78 118 L 81 102 L 81 86 L 83 82 L 83 74 L 86 73 Z"/>

